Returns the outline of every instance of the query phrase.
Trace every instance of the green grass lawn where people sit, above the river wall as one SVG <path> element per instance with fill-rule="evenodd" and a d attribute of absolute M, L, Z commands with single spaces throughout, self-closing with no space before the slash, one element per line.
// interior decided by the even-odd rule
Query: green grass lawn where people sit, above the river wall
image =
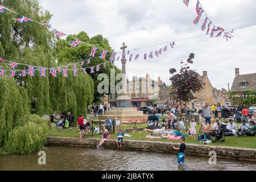
<path fill-rule="evenodd" d="M 240 123 L 237 124 L 240 126 Z M 139 127 L 138 125 L 137 127 Z M 134 127 L 132 126 L 121 126 L 122 129 L 131 129 Z M 145 127 L 146 125 L 141 125 L 141 127 Z M 197 131 L 199 130 L 200 126 L 197 125 Z M 179 143 L 179 140 L 167 140 L 167 139 L 146 139 L 146 135 L 150 135 L 150 133 L 146 133 L 144 131 L 138 131 L 137 133 L 127 133 L 132 137 L 126 137 L 127 140 L 142 140 L 142 141 L 152 141 L 152 142 L 172 142 L 172 143 Z M 197 133 L 200 134 L 200 133 Z M 52 130 L 48 133 L 49 137 L 73 137 L 79 138 L 79 131 L 76 127 L 73 129 L 56 129 Z M 92 138 L 101 139 L 102 135 L 94 135 Z M 115 134 L 110 134 L 110 139 L 117 139 Z M 204 144 L 199 143 L 197 140 L 192 140 L 191 137 L 186 137 L 186 143 L 192 144 Z M 229 147 L 243 147 L 243 148 L 256 148 L 256 137 L 226 137 L 225 142 L 216 142 L 208 144 L 209 146 L 229 146 Z"/>

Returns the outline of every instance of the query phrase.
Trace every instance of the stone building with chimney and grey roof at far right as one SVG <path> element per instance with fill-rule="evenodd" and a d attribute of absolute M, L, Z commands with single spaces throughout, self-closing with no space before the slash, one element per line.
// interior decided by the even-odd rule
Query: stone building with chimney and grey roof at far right
<path fill-rule="evenodd" d="M 240 75 L 240 69 L 235 69 L 235 78 L 233 81 L 231 93 L 237 93 L 241 97 L 247 91 L 256 91 L 256 73 Z"/>

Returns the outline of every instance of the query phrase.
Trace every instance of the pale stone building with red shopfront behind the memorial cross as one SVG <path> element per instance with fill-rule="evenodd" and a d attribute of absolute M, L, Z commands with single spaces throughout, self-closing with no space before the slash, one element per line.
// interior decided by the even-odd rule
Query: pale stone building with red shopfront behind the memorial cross
<path fill-rule="evenodd" d="M 152 102 L 158 98 L 159 90 L 165 83 L 158 77 L 152 80 L 150 75 L 146 77 L 134 76 L 132 80 L 127 80 L 127 93 L 131 98 L 133 106 L 151 106 Z M 117 106 L 118 94 L 105 94 L 104 104 L 111 107 Z"/>

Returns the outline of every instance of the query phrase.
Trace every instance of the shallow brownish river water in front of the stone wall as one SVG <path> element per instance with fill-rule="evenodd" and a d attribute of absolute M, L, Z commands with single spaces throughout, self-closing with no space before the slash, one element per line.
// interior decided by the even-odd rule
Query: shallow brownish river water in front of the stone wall
<path fill-rule="evenodd" d="M 217 159 L 209 165 L 209 158 L 186 156 L 185 165 L 177 166 L 177 156 L 150 152 L 97 150 L 83 147 L 46 148 L 46 165 L 39 165 L 37 154 L 0 156 L 0 170 L 82 170 L 82 171 L 189 171 L 189 170 L 255 170 L 256 163 Z"/>

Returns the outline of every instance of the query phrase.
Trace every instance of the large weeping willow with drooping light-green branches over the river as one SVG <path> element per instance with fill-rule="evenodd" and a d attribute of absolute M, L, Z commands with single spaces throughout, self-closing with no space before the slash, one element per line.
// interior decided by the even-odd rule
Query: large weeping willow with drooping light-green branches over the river
<path fill-rule="evenodd" d="M 0 1 L 20 14 L 47 23 L 51 19 L 49 11 L 44 11 L 36 0 Z M 3 59 L 26 65 L 52 68 L 60 66 L 56 61 L 57 50 L 53 32 L 35 22 L 18 23 L 18 18 L 10 11 L 0 15 L 0 56 Z M 74 60 L 70 60 L 74 61 Z M 0 62 L 0 69 L 8 70 L 7 63 Z M 19 70 L 27 66 L 19 65 Z M 47 122 L 38 115 L 52 114 L 54 111 L 72 111 L 75 116 L 84 113 L 93 101 L 93 80 L 79 73 L 77 77 L 69 72 L 68 78 L 58 73 L 53 78 L 49 73 L 40 77 L 21 77 L 19 71 L 13 78 L 10 72 L 0 81 L 0 154 L 27 154 L 41 150 L 46 144 Z M 31 105 L 36 105 L 31 115 Z"/>

